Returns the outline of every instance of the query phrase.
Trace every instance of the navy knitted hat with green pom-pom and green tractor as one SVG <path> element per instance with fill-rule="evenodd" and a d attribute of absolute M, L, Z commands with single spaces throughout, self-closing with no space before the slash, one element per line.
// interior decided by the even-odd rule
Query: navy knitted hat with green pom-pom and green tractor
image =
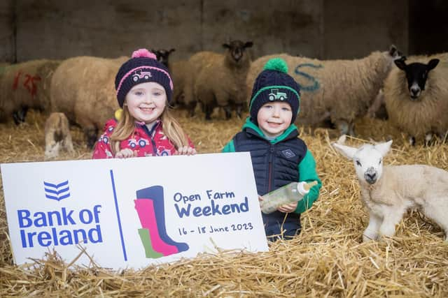
<path fill-rule="evenodd" d="M 294 123 L 300 110 L 300 87 L 293 77 L 288 75 L 288 66 L 281 58 L 267 61 L 263 71 L 255 79 L 249 105 L 251 120 L 254 124 L 258 124 L 258 110 L 269 101 L 289 103 L 293 112 L 291 124 Z"/>

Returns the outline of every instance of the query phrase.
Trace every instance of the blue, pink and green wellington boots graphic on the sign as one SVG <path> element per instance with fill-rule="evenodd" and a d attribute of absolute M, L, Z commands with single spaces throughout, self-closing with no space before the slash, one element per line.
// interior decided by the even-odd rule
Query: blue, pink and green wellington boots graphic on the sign
<path fill-rule="evenodd" d="M 139 236 L 146 258 L 155 259 L 188 251 L 188 244 L 176 242 L 167 234 L 162 186 L 140 189 L 134 203 L 141 223 Z"/>

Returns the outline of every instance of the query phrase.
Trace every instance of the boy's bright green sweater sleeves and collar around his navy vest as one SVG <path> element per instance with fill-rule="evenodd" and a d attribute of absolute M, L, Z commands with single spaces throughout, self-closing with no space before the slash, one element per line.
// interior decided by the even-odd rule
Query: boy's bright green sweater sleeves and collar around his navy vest
<path fill-rule="evenodd" d="M 262 138 L 267 140 L 265 137 L 265 134 L 262 133 L 260 128 L 253 124 L 253 122 L 249 119 L 249 117 L 246 119 L 246 123 L 243 125 L 242 130 L 244 131 L 245 128 L 252 128 L 254 131 L 256 131 Z M 285 139 L 286 136 L 289 135 L 289 133 L 293 130 L 297 129 L 297 127 L 294 124 L 291 124 L 286 131 L 283 131 L 281 135 L 276 137 L 274 140 L 267 140 L 268 142 L 271 142 L 271 144 L 276 144 L 278 142 L 281 142 Z M 223 152 L 235 152 L 235 144 L 233 144 L 233 139 L 228 142 L 228 144 L 225 145 L 223 148 Z M 316 172 L 316 161 L 314 161 L 314 157 L 311 154 L 309 150 L 307 150 L 307 154 L 305 154 L 302 161 L 299 163 L 297 170 L 299 171 L 299 177 L 300 181 L 317 181 L 317 185 L 313 186 L 307 195 L 303 198 L 303 200 L 300 200 L 297 204 L 297 208 L 295 209 L 296 213 L 302 213 L 305 210 L 309 209 L 311 205 L 317 200 L 319 196 L 319 191 L 322 186 L 321 179 L 319 179 L 317 172 Z"/>

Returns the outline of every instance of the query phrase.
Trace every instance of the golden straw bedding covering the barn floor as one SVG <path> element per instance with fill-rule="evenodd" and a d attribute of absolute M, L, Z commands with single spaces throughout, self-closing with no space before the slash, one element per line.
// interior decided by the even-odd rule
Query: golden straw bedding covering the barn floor
<path fill-rule="evenodd" d="M 244 120 L 207 124 L 198 114 L 185 117 L 175 110 L 200 153 L 220 151 Z M 0 124 L 0 162 L 43 161 L 44 117 L 31 112 L 25 126 Z M 358 139 L 381 141 L 392 137 L 389 164 L 425 163 L 448 170 L 447 144 L 410 147 L 405 135 L 384 121 L 363 119 Z M 74 154 L 59 159 L 87 159 L 83 133 L 71 128 Z M 29 268 L 13 265 L 3 192 L 0 197 L 0 297 L 447 297 L 448 245 L 440 228 L 418 211 L 409 211 L 396 236 L 361 243 L 368 216 L 358 200 L 353 165 L 330 148 L 331 131 L 301 137 L 314 154 L 323 181 L 314 207 L 302 215 L 302 233 L 291 241 L 269 244 L 268 253 L 214 251 L 170 265 L 139 271 L 77 267 L 52 251 Z M 20 136 L 20 137 L 19 137 Z M 85 253 L 80 247 L 80 254 Z"/>

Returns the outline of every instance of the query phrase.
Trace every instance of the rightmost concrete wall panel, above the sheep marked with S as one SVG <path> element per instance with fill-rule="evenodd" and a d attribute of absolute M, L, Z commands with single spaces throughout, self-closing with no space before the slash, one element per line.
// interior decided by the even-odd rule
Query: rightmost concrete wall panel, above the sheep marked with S
<path fill-rule="evenodd" d="M 407 1 L 325 1 L 325 59 L 356 58 L 395 45 L 408 53 Z"/>

